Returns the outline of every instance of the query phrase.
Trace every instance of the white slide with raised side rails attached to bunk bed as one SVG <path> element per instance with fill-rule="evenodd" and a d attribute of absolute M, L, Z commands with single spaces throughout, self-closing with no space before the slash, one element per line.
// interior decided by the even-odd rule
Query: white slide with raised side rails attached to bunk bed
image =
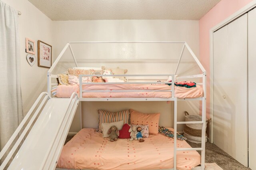
<path fill-rule="evenodd" d="M 38 101 L 44 99 L 38 107 Z M 56 167 L 60 152 L 66 140 L 68 130 L 71 126 L 76 108 L 79 103 L 79 97 L 76 93 L 73 93 L 70 98 L 51 98 L 48 93 L 43 92 L 34 103 L 28 114 L 36 109 L 34 115 L 30 119 L 24 131 L 20 135 L 20 138 L 12 147 L 7 158 L 0 166 L 0 170 L 5 169 L 6 164 L 12 157 L 23 136 L 29 130 L 37 114 L 40 113 L 38 119 L 32 125 L 30 132 L 27 134 L 22 146 L 14 156 L 8 169 L 10 170 L 53 170 Z M 41 109 L 42 108 L 42 109 Z M 29 115 L 26 115 L 20 126 L 14 132 L 5 148 L 0 152 L 0 158 L 2 158 L 4 151 L 8 149 L 16 134 L 25 125 L 26 119 Z M 9 146 L 8 146 L 9 145 Z"/>

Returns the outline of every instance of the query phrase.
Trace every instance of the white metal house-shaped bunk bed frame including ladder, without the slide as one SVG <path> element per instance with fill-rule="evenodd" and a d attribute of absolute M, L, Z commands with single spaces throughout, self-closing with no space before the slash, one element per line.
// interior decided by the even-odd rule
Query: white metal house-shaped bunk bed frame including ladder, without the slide
<path fill-rule="evenodd" d="M 192 49 L 189 47 L 188 43 L 186 42 L 150 42 L 150 41 L 132 41 L 132 42 L 68 42 L 66 43 L 65 47 L 62 49 L 60 54 L 58 55 L 57 59 L 54 61 L 52 64 L 52 67 L 48 71 L 48 93 L 50 94 L 51 92 L 51 87 L 52 85 L 56 85 L 56 83 L 51 83 L 52 78 L 58 78 L 57 75 L 53 75 L 52 71 L 56 67 L 58 61 L 66 51 L 66 49 L 69 47 L 70 52 L 72 54 L 72 57 L 74 59 L 74 63 L 76 64 L 76 67 L 78 67 L 78 64 L 76 62 L 76 58 L 74 56 L 71 44 L 81 44 L 81 43 L 182 43 L 183 47 L 180 53 L 180 57 L 176 66 L 176 70 L 174 74 L 162 74 L 162 75 L 104 75 L 104 76 L 125 76 L 125 77 L 134 77 L 134 76 L 139 76 L 139 77 L 145 77 L 145 76 L 172 76 L 172 82 L 174 82 L 174 77 L 176 76 L 176 73 L 178 71 L 180 61 L 182 59 L 182 55 L 184 52 L 185 47 L 188 49 L 190 54 L 192 55 L 193 59 L 196 61 L 197 65 L 200 67 L 200 70 L 202 71 L 202 74 L 197 74 L 197 75 L 188 75 L 188 76 L 182 76 L 182 77 L 176 77 L 176 79 L 192 79 L 192 78 L 202 78 L 202 83 L 197 83 L 198 85 L 202 85 L 203 88 L 203 97 L 199 98 L 194 98 L 194 99 L 179 99 L 177 97 L 174 97 L 174 85 L 172 85 L 172 89 L 169 90 L 172 93 L 172 97 L 170 98 L 84 98 L 82 97 L 82 93 L 84 92 L 110 92 L 106 90 L 94 90 L 94 91 L 86 91 L 82 90 L 82 85 L 83 84 L 166 84 L 168 82 L 124 82 L 124 83 L 82 83 L 82 77 L 84 76 L 91 76 L 91 75 L 79 75 L 79 81 L 80 81 L 80 101 L 174 101 L 174 170 L 176 170 L 176 152 L 177 150 L 201 150 L 201 169 L 204 169 L 204 163 L 205 163 L 205 128 L 206 128 L 206 70 L 192 51 Z M 94 75 L 94 76 L 102 76 L 102 75 Z M 170 82 L 169 82 L 170 83 Z M 143 90 L 112 90 L 111 92 L 142 92 Z M 147 90 L 148 91 L 148 90 Z M 152 91 L 157 91 L 157 90 L 152 90 Z M 177 122 L 177 101 L 178 100 L 197 100 L 197 101 L 202 101 L 202 121 L 192 121 L 192 122 Z M 177 148 L 176 142 L 176 133 L 177 133 L 177 124 L 194 124 L 194 123 L 201 123 L 202 124 L 202 145 L 201 148 Z M 82 124 L 81 124 L 82 126 Z"/>

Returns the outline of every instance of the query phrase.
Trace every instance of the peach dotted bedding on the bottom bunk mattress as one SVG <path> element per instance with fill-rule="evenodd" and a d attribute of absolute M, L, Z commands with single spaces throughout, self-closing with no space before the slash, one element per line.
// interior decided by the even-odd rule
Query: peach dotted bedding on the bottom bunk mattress
<path fill-rule="evenodd" d="M 173 129 L 171 129 L 173 130 Z M 57 168 L 100 170 L 148 170 L 173 168 L 174 139 L 149 135 L 144 142 L 119 139 L 110 142 L 93 128 L 83 128 L 62 149 Z M 177 140 L 178 148 L 191 148 Z M 177 151 L 177 168 L 189 170 L 200 164 L 195 150 Z"/>

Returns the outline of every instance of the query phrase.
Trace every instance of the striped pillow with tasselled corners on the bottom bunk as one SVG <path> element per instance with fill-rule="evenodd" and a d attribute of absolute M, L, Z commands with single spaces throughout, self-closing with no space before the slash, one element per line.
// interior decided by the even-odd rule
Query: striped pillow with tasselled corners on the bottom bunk
<path fill-rule="evenodd" d="M 99 126 L 98 132 L 102 132 L 102 123 L 112 123 L 117 121 L 124 121 L 124 124 L 130 124 L 130 109 L 120 112 L 108 112 L 98 110 Z"/>

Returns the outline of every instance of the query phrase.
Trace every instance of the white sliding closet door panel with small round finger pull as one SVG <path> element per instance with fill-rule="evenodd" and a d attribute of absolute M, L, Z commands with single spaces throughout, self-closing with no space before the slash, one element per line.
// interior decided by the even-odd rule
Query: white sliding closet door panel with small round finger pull
<path fill-rule="evenodd" d="M 214 144 L 248 165 L 247 14 L 214 32 Z"/>

